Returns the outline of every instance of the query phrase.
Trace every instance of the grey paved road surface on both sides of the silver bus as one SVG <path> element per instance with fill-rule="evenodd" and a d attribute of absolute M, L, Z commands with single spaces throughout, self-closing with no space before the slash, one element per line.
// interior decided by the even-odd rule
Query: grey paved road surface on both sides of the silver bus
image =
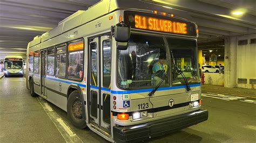
<path fill-rule="evenodd" d="M 0 90 L 4 91 L 0 94 L 0 142 L 69 141 L 56 118 L 70 127 L 76 140 L 79 139 L 77 142 L 107 142 L 89 129 L 73 127 L 66 112 L 55 105 L 42 98 L 30 97 L 24 78 L 4 77 L 0 86 L 9 87 Z M 146 142 L 255 142 L 255 101 L 256 98 L 250 95 L 204 92 L 202 103 L 203 108 L 209 111 L 207 121 Z M 53 111 L 49 111 L 51 109 Z M 56 115 L 51 116 L 52 112 Z"/>

